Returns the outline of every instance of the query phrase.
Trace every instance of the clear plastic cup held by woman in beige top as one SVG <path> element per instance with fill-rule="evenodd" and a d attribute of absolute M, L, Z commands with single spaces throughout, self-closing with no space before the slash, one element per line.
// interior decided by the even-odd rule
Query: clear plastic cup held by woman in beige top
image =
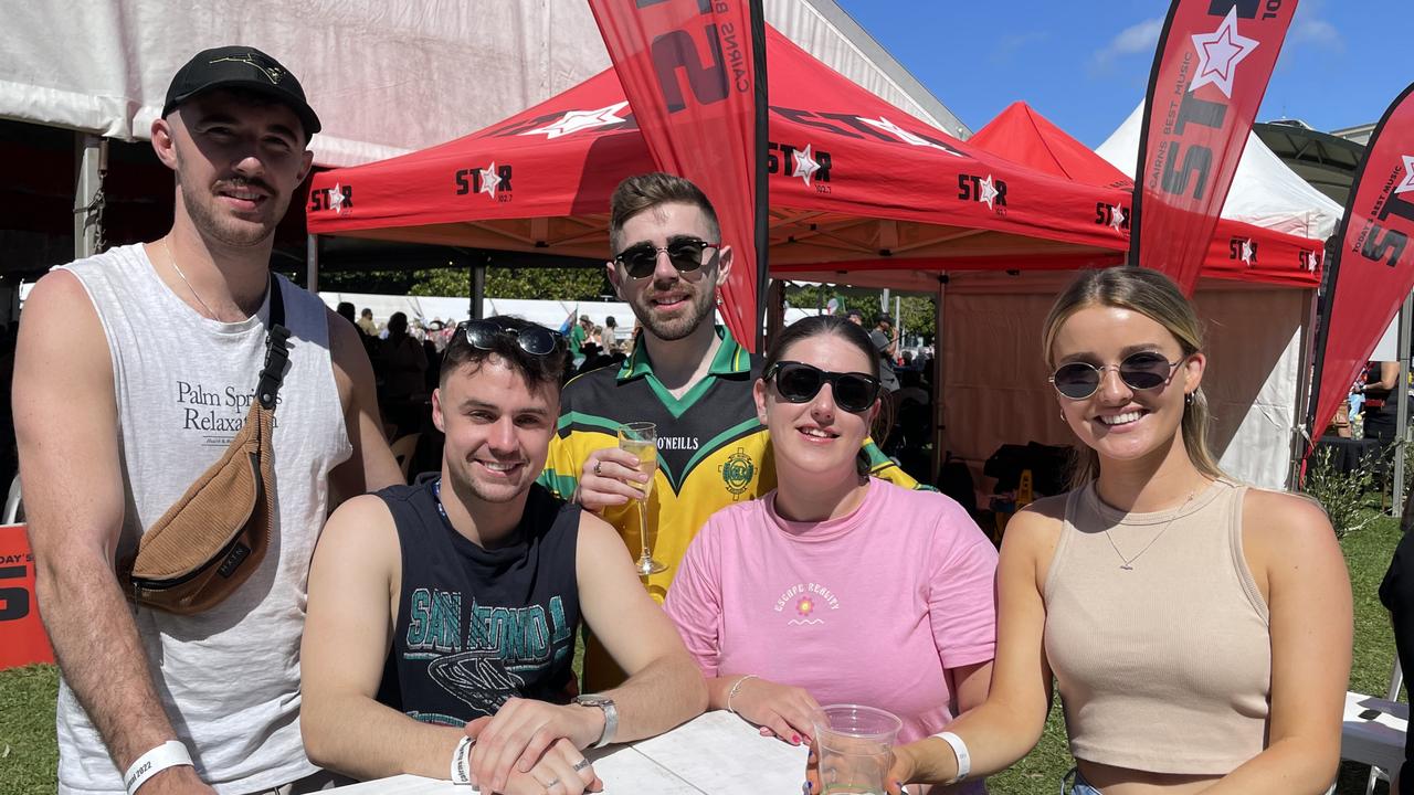
<path fill-rule="evenodd" d="M 814 719 L 823 795 L 884 795 L 884 777 L 904 726 L 896 716 L 861 704 L 830 704 Z"/>

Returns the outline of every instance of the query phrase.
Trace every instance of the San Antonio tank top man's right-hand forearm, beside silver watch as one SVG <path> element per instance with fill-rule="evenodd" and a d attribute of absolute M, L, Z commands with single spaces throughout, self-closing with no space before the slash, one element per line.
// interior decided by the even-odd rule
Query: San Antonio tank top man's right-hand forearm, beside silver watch
<path fill-rule="evenodd" d="M 707 709 L 707 685 L 686 655 L 653 661 L 605 695 L 618 707 L 615 743 L 662 734 Z"/>

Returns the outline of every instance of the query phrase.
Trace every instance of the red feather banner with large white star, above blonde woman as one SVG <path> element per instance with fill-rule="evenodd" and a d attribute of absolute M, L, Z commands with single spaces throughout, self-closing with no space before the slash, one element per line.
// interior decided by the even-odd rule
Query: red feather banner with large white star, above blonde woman
<path fill-rule="evenodd" d="M 1130 263 L 1192 294 L 1297 0 L 1174 0 L 1144 102 Z"/>

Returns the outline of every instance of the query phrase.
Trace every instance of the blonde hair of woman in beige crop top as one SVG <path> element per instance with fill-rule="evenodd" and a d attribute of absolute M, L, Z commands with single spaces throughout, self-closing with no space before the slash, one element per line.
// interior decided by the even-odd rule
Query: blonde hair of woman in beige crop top
<path fill-rule="evenodd" d="M 1055 368 L 1052 345 L 1060 325 L 1072 314 L 1087 307 L 1116 307 L 1143 314 L 1174 335 L 1185 358 L 1203 349 L 1203 327 L 1198 321 L 1193 304 L 1167 276 L 1148 267 L 1107 267 L 1083 272 L 1051 306 L 1041 337 L 1041 355 L 1048 368 Z M 1199 386 L 1185 400 L 1184 447 L 1188 450 L 1188 460 L 1199 472 L 1210 478 L 1226 478 L 1208 446 L 1209 420 L 1208 398 Z M 1079 488 L 1099 474 L 1099 454 L 1089 447 L 1079 448 L 1070 472 L 1070 487 Z"/>

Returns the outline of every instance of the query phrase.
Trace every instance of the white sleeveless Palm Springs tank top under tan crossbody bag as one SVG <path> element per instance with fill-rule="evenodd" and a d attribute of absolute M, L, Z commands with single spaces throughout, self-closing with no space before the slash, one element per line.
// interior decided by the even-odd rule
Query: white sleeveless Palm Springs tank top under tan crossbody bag
<path fill-rule="evenodd" d="M 113 361 L 127 502 L 123 559 L 239 430 L 264 362 L 269 291 L 255 317 L 219 323 L 178 298 L 141 246 L 64 267 L 88 290 Z M 274 417 L 270 549 L 255 574 L 208 613 L 136 614 L 173 727 L 197 772 L 223 795 L 317 770 L 304 755 L 298 720 L 305 584 L 329 470 L 352 454 L 324 303 L 277 279 L 291 337 Z M 59 683 L 58 740 L 61 794 L 123 792 L 120 771 L 66 682 Z"/>

